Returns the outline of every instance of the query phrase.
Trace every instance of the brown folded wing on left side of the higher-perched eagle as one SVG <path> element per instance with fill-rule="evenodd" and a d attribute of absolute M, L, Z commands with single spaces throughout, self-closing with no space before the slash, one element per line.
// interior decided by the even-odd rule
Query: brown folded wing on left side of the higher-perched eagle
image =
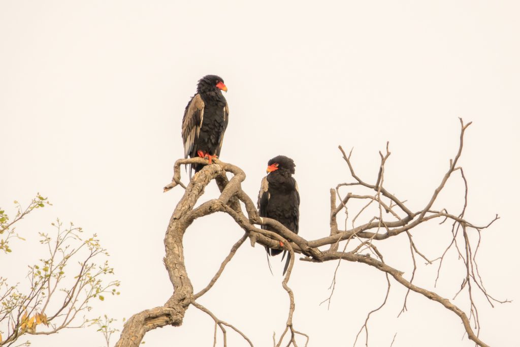
<path fill-rule="evenodd" d="M 195 145 L 199 138 L 202 119 L 204 118 L 204 101 L 199 94 L 195 94 L 186 106 L 183 117 L 184 158 L 194 157 L 197 153 Z"/>

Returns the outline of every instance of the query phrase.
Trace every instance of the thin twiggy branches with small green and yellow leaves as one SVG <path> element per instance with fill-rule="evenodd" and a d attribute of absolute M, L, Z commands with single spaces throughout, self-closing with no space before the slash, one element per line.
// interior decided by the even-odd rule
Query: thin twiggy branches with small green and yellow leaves
<path fill-rule="evenodd" d="M 2 243 L 6 253 L 10 252 L 8 238 L 15 235 L 12 226 L 50 204 L 39 194 L 26 209 L 15 203 L 18 212 L 12 222 L 2 211 L 2 230 L 8 236 Z M 24 335 L 51 335 L 64 328 L 83 327 L 89 322 L 84 314 L 92 310 L 94 298 L 104 301 L 106 295 L 120 294 L 120 281 L 107 279 L 113 268 L 107 260 L 99 262 L 108 252 L 96 234 L 84 239 L 81 227 L 72 223 L 64 227 L 59 219 L 51 225 L 53 233 L 38 233 L 47 257 L 29 266 L 27 288 L 11 286 L 0 277 L 0 346 L 11 346 Z M 76 319 L 80 315 L 83 317 Z"/>

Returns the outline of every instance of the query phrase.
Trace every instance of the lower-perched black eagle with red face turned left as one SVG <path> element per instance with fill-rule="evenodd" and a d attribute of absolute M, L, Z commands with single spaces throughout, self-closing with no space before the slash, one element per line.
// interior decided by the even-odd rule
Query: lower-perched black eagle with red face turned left
<path fill-rule="evenodd" d="M 300 194 L 298 185 L 292 177 L 294 174 L 294 161 L 285 156 L 272 158 L 267 163 L 267 176 L 262 179 L 262 186 L 258 193 L 258 213 L 261 217 L 277 220 L 293 233 L 298 234 L 298 219 L 300 219 Z M 276 230 L 263 225 L 263 229 L 276 232 Z M 281 243 L 281 242 L 280 242 Z M 281 244 L 280 246 L 283 246 Z M 269 255 L 277 255 L 280 249 L 266 247 L 267 261 Z M 285 256 L 283 251 L 282 260 Z M 287 254 L 287 261 L 283 267 L 283 274 L 289 266 L 291 254 Z M 270 265 L 269 265 L 270 268 Z"/>

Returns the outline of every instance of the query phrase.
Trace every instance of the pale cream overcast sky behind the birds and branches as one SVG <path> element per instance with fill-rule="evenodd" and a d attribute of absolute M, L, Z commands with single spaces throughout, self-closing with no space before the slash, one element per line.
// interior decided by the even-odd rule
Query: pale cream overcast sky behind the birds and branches
<path fill-rule="evenodd" d="M 218 74 L 229 88 L 221 158 L 246 172 L 250 196 L 256 199 L 268 159 L 283 154 L 296 162 L 300 234 L 307 239 L 328 235 L 329 188 L 349 180 L 337 145 L 355 147 L 353 162 L 370 181 L 389 140 L 386 187 L 419 209 L 456 153 L 462 117 L 474 122 L 461 158 L 470 185 L 466 216 L 485 224 L 501 215 L 483 233 L 480 272 L 493 295 L 517 300 L 519 9 L 514 1 L 3 0 L 0 205 L 12 212 L 12 200 L 27 204 L 40 191 L 54 206 L 20 224 L 25 237 L 51 232 L 58 216 L 97 233 L 123 284 L 120 297 L 96 305 L 93 315 L 121 322 L 172 293 L 163 238 L 182 191 L 163 194 L 162 187 L 183 155 L 181 119 L 203 75 Z M 456 175 L 434 208 L 458 211 L 462 198 Z M 436 258 L 449 230 L 428 224 L 414 232 L 415 242 Z M 241 235 L 223 214 L 188 229 L 186 262 L 196 291 Z M 378 247 L 409 278 L 406 236 Z M 13 264 L 24 272 L 22 264 L 42 250 L 31 240 L 12 248 L 0 255 L 2 274 L 23 280 Z M 452 298 L 464 269 L 453 251 L 449 260 L 434 291 Z M 319 306 L 335 265 L 295 264 L 294 324 L 311 336 L 310 346 L 352 345 L 367 312 L 384 298 L 383 274 L 345 262 L 331 309 Z M 255 345 L 270 345 L 288 307 L 282 265 L 274 266 L 271 276 L 264 249 L 248 243 L 200 302 Z M 433 289 L 436 266 L 420 271 L 417 284 Z M 388 305 L 371 320 L 370 345 L 389 346 L 395 332 L 394 346 L 473 345 L 458 317 L 420 295 L 410 294 L 409 311 L 397 319 L 404 294 L 393 282 Z M 492 346 L 518 345 L 517 302 L 490 309 L 476 295 L 480 337 Z M 465 299 L 455 303 L 467 311 Z M 98 334 L 63 331 L 33 345 L 97 346 Z M 245 345 L 231 332 L 228 338 Z M 211 318 L 194 307 L 180 328 L 145 337 L 148 346 L 212 339 Z"/>

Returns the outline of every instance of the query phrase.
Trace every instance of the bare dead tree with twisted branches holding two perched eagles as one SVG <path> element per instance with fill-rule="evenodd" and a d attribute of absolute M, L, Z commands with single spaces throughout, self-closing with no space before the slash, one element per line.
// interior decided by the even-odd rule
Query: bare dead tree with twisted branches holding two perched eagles
<path fill-rule="evenodd" d="M 352 151 L 347 155 L 347 153 L 345 153 L 345 151 L 340 147 L 343 159 L 348 165 L 348 169 L 352 175 L 353 182 L 339 184 L 335 189 L 330 190 L 330 230 L 322 238 L 316 240 L 306 240 L 305 238 L 290 232 L 275 220 L 268 218 L 262 219 L 259 217 L 255 203 L 241 188 L 241 183 L 245 178 L 245 174 L 240 168 L 238 168 L 238 166 L 217 160 L 213 165 L 206 165 L 202 171 L 193 177 L 189 185 L 186 187 L 180 181 L 180 165 L 190 163 L 207 164 L 207 160 L 202 158 L 177 160 L 174 167 L 173 181 L 164 188 L 165 191 L 176 186 L 181 186 L 185 189 L 184 196 L 180 199 L 172 214 L 170 223 L 166 230 L 166 237 L 164 239 L 166 249 L 164 264 L 170 276 L 170 281 L 173 284 L 173 295 L 163 306 L 154 307 L 136 313 L 128 319 L 116 346 L 137 347 L 148 331 L 166 325 L 179 326 L 183 322 L 184 314 L 190 305 L 197 307 L 197 309 L 205 312 L 214 319 L 215 339 L 216 329 L 218 327 L 223 332 L 224 346 L 226 346 L 225 327 L 230 327 L 235 330 L 251 346 L 253 346 L 250 339 L 240 330 L 231 324 L 220 320 L 210 310 L 197 302 L 197 299 L 207 291 L 211 290 L 220 274 L 224 271 L 226 265 L 233 258 L 233 255 L 235 255 L 237 249 L 241 247 L 244 241 L 248 238 L 250 239 L 252 246 L 259 243 L 262 246 L 275 249 L 280 248 L 281 241 L 285 249 L 291 253 L 291 263 L 282 281 L 282 287 L 287 291 L 290 302 L 288 318 L 281 336 L 277 340 L 274 339 L 273 344 L 276 347 L 279 347 L 282 344 L 284 338 L 288 341 L 284 344 L 287 346 L 290 346 L 291 344 L 296 346 L 295 337 L 298 335 L 306 338 L 305 345 L 307 345 L 309 339 L 307 335 L 297 331 L 292 323 L 295 302 L 293 291 L 289 287 L 289 279 L 291 278 L 295 253 L 301 255 L 301 261 L 338 261 L 337 266 L 339 266 L 341 261 L 348 261 L 372 266 L 373 268 L 383 272 L 387 278 L 388 289 L 383 305 L 386 303 L 386 299 L 388 298 L 388 292 L 391 286 L 390 277 L 392 277 L 399 285 L 404 286 L 408 290 L 402 309 L 403 311 L 406 310 L 406 300 L 410 291 L 421 294 L 429 300 L 438 302 L 443 305 L 446 310 L 457 315 L 464 326 L 467 337 L 479 346 L 487 346 L 485 342 L 478 338 L 480 326 L 478 322 L 477 307 L 473 302 L 473 295 L 475 294 L 475 291 L 482 292 L 491 305 L 493 302 L 502 303 L 507 301 L 496 300 L 486 291 L 482 278 L 480 278 L 478 273 L 475 253 L 480 245 L 480 233 L 499 217 L 498 215 L 495 216 L 495 218 L 487 225 L 483 226 L 475 225 L 464 218 L 464 212 L 467 206 L 467 182 L 464 172 L 458 165 L 458 162 L 462 153 L 464 132 L 471 123 L 464 124 L 461 119 L 460 124 L 460 144 L 457 154 L 449 161 L 449 168 L 444 177 L 441 178 L 440 183 L 433 192 L 430 200 L 420 210 L 412 210 L 408 208 L 406 201 L 401 201 L 396 195 L 391 194 L 384 188 L 385 163 L 390 156 L 388 144 L 386 147 L 386 153 L 383 154 L 380 152 L 381 165 L 375 183 L 367 183 L 356 175 L 353 163 L 350 161 L 350 154 Z M 227 172 L 233 175 L 229 181 L 226 177 Z M 444 189 L 448 178 L 452 174 L 456 173 L 461 175 L 465 183 L 465 200 L 462 211 L 458 214 L 452 214 L 445 209 L 435 210 L 433 205 L 437 196 Z M 217 199 L 205 201 L 197 208 L 194 208 L 197 201 L 204 194 L 204 188 L 213 179 L 215 179 L 220 189 L 220 196 Z M 353 194 L 353 192 L 350 191 L 352 187 L 364 189 L 366 194 Z M 343 190 L 346 190 L 346 192 Z M 338 198 L 339 203 L 337 202 Z M 359 209 L 354 217 L 350 218 L 348 216 L 348 208 L 352 205 L 353 201 L 363 201 L 363 207 Z M 245 213 L 242 210 L 241 203 L 243 203 L 243 206 L 245 207 Z M 357 223 L 357 220 L 361 218 L 361 214 L 368 211 L 370 207 L 374 207 L 376 213 L 365 222 Z M 346 213 L 345 227 L 340 229 L 337 219 L 338 214 L 342 211 Z M 220 265 L 220 268 L 209 284 L 207 284 L 207 286 L 200 292 L 194 293 L 184 262 L 183 236 L 194 220 L 215 212 L 227 213 L 236 224 L 244 230 L 244 234 L 235 245 L 233 245 L 229 254 L 223 260 L 222 265 Z M 347 220 L 352 224 L 352 228 L 347 227 Z M 418 225 L 432 220 L 437 220 L 441 223 L 451 223 L 452 241 L 444 251 L 444 254 L 440 255 L 437 259 L 430 260 L 423 255 L 417 245 L 415 245 L 411 233 Z M 275 228 L 277 233 L 263 230 L 258 227 L 259 225 L 269 225 Z M 389 264 L 386 264 L 382 252 L 380 252 L 373 242 L 374 240 L 383 241 L 393 237 L 405 237 L 409 240 L 411 259 L 413 260 L 413 272 L 411 276 L 407 276 L 409 278 L 405 278 L 403 272 Z M 476 248 L 470 243 L 470 238 L 477 238 L 478 241 L 476 243 Z M 323 250 L 323 247 L 327 246 L 328 249 Z M 440 271 L 440 266 L 443 263 L 446 252 L 452 248 L 457 250 L 460 259 L 464 262 L 466 268 L 465 278 L 460 290 L 466 290 L 469 293 L 471 307 L 469 315 L 450 302 L 447 298 L 440 297 L 431 290 L 413 284 L 415 269 L 417 268 L 415 263 L 416 257 L 422 258 L 430 264 L 435 262 L 438 263 Z M 363 252 L 368 253 L 363 254 Z M 335 274 L 332 292 L 334 291 L 334 282 Z M 328 300 L 330 302 L 330 297 Z M 383 305 L 374 311 L 381 309 Z M 367 322 L 370 314 L 374 311 L 368 314 L 365 325 L 360 329 L 360 332 L 364 329 L 368 334 Z M 472 327 L 471 323 L 473 323 L 474 327 Z"/>

